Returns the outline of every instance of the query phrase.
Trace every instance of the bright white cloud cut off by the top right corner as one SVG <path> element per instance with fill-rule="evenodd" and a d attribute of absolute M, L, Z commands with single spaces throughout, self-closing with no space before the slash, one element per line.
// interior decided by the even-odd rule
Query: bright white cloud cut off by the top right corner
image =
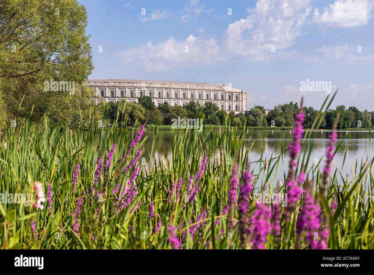
<path fill-rule="evenodd" d="M 314 19 L 316 22 L 344 28 L 366 25 L 373 16 L 373 6 L 373 0 L 337 0 Z"/>

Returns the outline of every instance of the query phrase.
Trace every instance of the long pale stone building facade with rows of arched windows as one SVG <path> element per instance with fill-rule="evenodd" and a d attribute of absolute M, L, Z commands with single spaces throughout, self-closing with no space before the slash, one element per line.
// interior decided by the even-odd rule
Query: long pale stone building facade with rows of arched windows
<path fill-rule="evenodd" d="M 247 92 L 231 86 L 206 83 L 171 82 L 154 80 L 89 79 L 89 88 L 95 89 L 95 101 L 117 102 L 125 100 L 138 102 L 138 98 L 150 96 L 156 107 L 164 102 L 169 106 L 185 106 L 197 101 L 200 106 L 211 101 L 220 110 L 244 113 L 247 106 Z"/>

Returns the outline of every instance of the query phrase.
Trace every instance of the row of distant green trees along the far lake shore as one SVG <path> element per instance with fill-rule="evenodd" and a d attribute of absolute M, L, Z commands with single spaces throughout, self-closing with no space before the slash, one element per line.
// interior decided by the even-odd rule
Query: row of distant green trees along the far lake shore
<path fill-rule="evenodd" d="M 206 102 L 204 106 L 200 106 L 197 101 L 190 101 L 185 106 L 169 106 L 164 103 L 158 107 L 154 106 L 151 97 L 139 98 L 138 103 L 129 103 L 125 105 L 124 101 L 116 103 L 108 103 L 106 123 L 113 123 L 117 119 L 117 111 L 119 111 L 118 121 L 122 120 L 122 116 L 127 114 L 128 126 L 138 127 L 140 123 L 148 118 L 150 125 L 172 125 L 173 119 L 199 119 L 205 116 L 204 124 L 209 125 L 225 125 L 231 123 L 232 126 L 250 126 L 250 127 L 291 127 L 294 124 L 294 114 L 298 112 L 297 103 L 279 104 L 270 110 L 267 114 L 263 106 L 255 106 L 245 114 L 235 114 L 233 111 L 227 113 L 219 110 L 212 102 Z M 313 107 L 303 107 L 305 120 L 303 126 L 310 129 L 318 114 L 318 110 Z M 320 129 L 331 129 L 337 114 L 340 113 L 338 129 L 349 128 L 369 128 L 373 123 L 374 112 L 365 110 L 360 111 L 356 107 L 340 105 L 335 110 L 329 109 L 325 117 L 320 123 Z M 135 125 L 136 123 L 136 125 Z M 316 126 L 315 126 L 316 127 Z"/>

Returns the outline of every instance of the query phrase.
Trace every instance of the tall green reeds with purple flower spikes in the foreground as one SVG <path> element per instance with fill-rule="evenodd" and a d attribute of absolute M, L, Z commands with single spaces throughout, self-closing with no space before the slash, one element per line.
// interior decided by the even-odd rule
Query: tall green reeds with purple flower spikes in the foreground
<path fill-rule="evenodd" d="M 0 248 L 373 249 L 374 159 L 341 174 L 332 165 L 334 127 L 326 162 L 315 164 L 313 145 L 301 150 L 310 135 L 304 117 L 300 108 L 289 148 L 269 160 L 249 159 L 248 128 L 227 125 L 202 135 L 182 129 L 172 155 L 149 169 L 142 162 L 146 120 L 138 131 L 104 131 L 91 116 L 89 131 L 83 122 L 71 132 L 48 119 L 7 128 L 0 136 L 0 190 L 8 195 L 0 193 Z M 217 151 L 219 162 L 212 160 Z M 285 154 L 289 172 L 275 177 Z M 279 196 L 287 201 L 270 200 Z"/>

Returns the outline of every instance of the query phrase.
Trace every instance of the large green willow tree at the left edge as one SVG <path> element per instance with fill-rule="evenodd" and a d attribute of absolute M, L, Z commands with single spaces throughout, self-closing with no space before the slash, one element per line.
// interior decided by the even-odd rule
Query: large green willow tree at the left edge
<path fill-rule="evenodd" d="M 34 119 L 69 117 L 92 97 L 77 92 L 93 69 L 86 25 L 77 0 L 0 0 L 0 109 L 7 120 L 31 109 Z M 73 83 L 75 92 L 46 89 L 46 82 Z"/>

